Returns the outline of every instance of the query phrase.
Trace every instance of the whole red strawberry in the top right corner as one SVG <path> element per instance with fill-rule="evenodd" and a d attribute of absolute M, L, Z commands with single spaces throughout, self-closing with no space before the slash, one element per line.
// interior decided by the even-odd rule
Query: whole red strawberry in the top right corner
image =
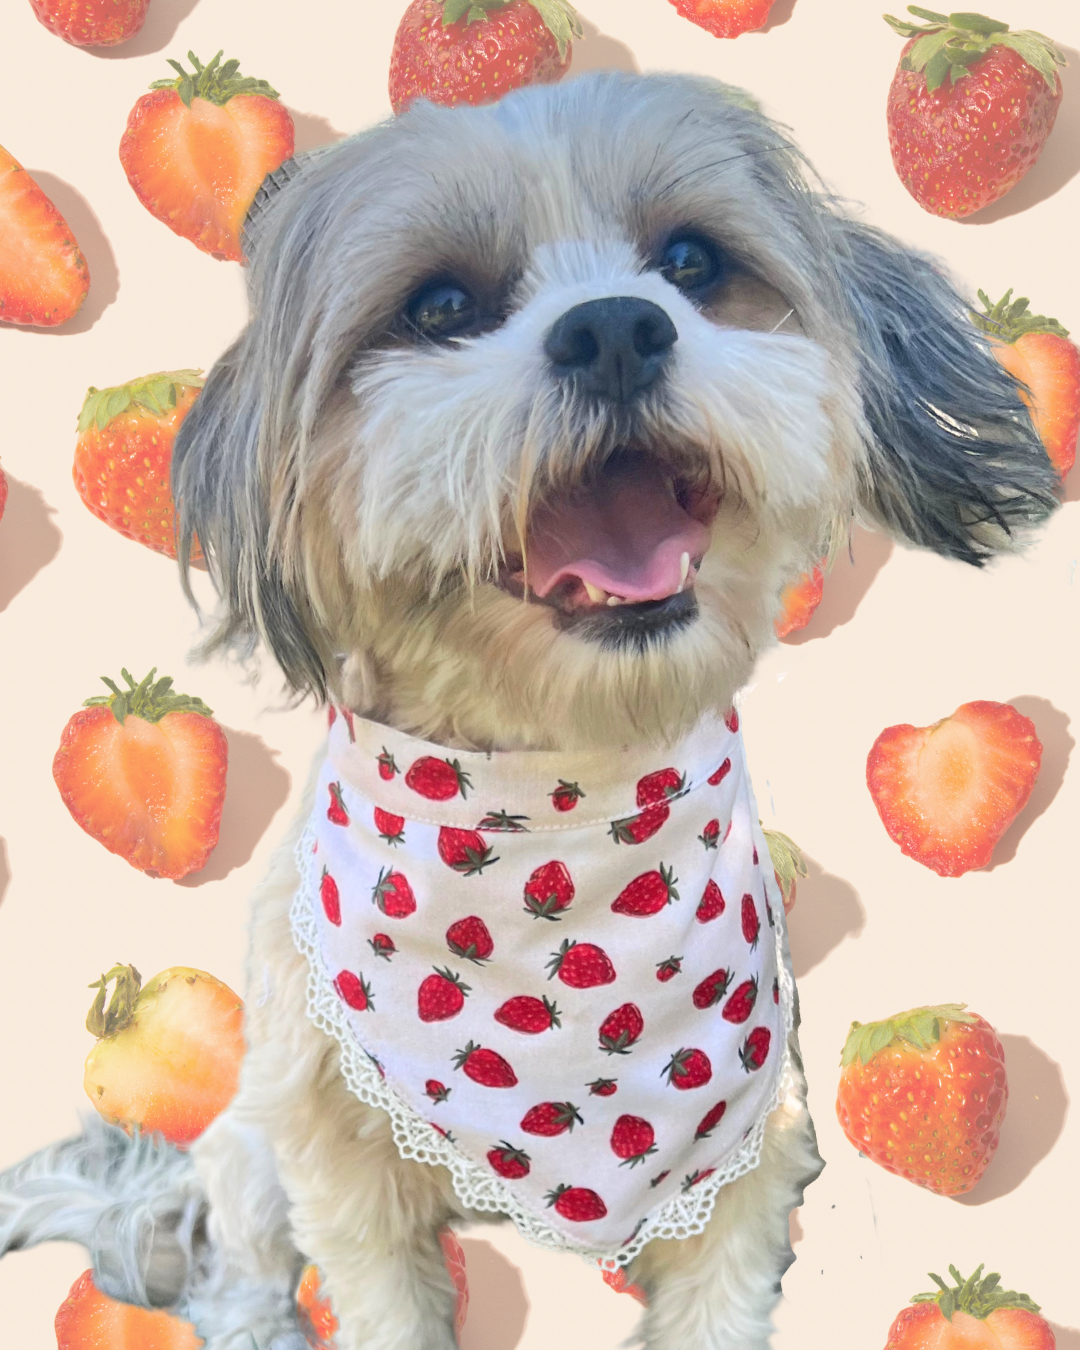
<path fill-rule="evenodd" d="M 892 163 L 915 201 L 957 219 L 998 201 L 1042 154 L 1065 54 L 1041 32 L 980 14 L 884 15 L 909 42 L 888 90 Z"/>

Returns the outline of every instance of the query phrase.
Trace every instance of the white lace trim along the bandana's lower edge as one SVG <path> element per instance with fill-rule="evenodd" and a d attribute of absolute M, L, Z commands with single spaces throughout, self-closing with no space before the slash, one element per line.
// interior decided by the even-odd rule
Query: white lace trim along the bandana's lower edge
<path fill-rule="evenodd" d="M 736 1181 L 757 1166 L 765 1134 L 765 1118 L 772 1110 L 780 1106 L 795 1085 L 791 1072 L 791 1049 L 787 1044 L 792 1029 L 794 986 L 791 973 L 783 960 L 779 937 L 776 940 L 776 964 L 782 991 L 782 1007 L 784 1010 L 784 1053 L 780 1061 L 776 1096 L 772 1106 L 761 1114 L 761 1118 L 747 1137 L 742 1148 L 724 1169 L 714 1172 L 709 1177 L 703 1177 L 686 1195 L 678 1195 L 666 1202 L 659 1210 L 644 1219 L 628 1242 L 616 1251 L 605 1256 L 595 1247 L 586 1247 L 572 1242 L 564 1233 L 544 1223 L 543 1218 L 533 1214 L 533 1211 L 525 1210 L 500 1177 L 471 1158 L 464 1157 L 448 1139 L 444 1139 L 437 1130 L 432 1129 L 427 1120 L 416 1115 L 394 1092 L 390 1084 L 383 1080 L 375 1064 L 360 1049 L 348 1025 L 342 1000 L 323 968 L 313 911 L 319 895 L 319 875 L 312 852 L 313 844 L 315 832 L 309 825 L 304 830 L 296 849 L 300 888 L 290 911 L 293 941 L 297 949 L 308 959 L 308 1017 L 321 1031 L 325 1031 L 327 1035 L 332 1035 L 338 1041 L 342 1052 L 342 1075 L 350 1091 L 360 1102 L 381 1107 L 390 1116 L 394 1143 L 402 1158 L 414 1158 L 417 1162 L 444 1166 L 450 1172 L 458 1199 L 466 1208 L 506 1214 L 513 1219 L 517 1230 L 528 1242 L 532 1242 L 535 1246 L 547 1247 L 548 1250 L 574 1251 L 585 1257 L 590 1265 L 599 1262 L 599 1265 L 608 1269 L 617 1269 L 618 1266 L 629 1265 L 641 1247 L 653 1238 L 688 1238 L 705 1230 L 721 1187 Z"/>

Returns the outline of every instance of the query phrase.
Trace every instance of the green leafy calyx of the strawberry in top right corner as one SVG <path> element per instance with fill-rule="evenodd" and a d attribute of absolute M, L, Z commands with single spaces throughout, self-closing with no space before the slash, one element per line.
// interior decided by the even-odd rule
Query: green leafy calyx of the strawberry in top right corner
<path fill-rule="evenodd" d="M 1007 23 L 987 19 L 981 14 L 936 14 L 917 4 L 910 4 L 907 12 L 929 22 L 911 23 L 910 19 L 894 19 L 891 14 L 882 18 L 902 38 L 918 39 L 900 59 L 900 69 L 925 72 L 930 93 L 945 84 L 946 76 L 952 84 L 963 80 L 968 73 L 967 68 L 991 47 L 1010 47 L 1038 70 L 1052 93 L 1057 92 L 1057 66 L 1068 62 L 1061 47 L 1045 34 L 1031 28 L 1011 32 Z"/>

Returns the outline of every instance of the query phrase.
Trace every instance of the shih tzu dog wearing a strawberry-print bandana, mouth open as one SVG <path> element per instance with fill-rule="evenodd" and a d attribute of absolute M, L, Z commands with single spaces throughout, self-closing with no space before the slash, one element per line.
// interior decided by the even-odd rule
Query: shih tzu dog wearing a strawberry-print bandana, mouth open
<path fill-rule="evenodd" d="M 760 1350 L 821 1160 L 733 711 L 856 518 L 981 564 L 1056 505 L 936 266 L 701 78 L 417 104 L 286 166 L 176 452 L 181 543 L 329 703 L 256 892 L 238 1096 L 90 1123 L 0 1250 L 208 1350 L 451 1350 L 440 1230 L 626 1266 L 649 1350 Z"/>

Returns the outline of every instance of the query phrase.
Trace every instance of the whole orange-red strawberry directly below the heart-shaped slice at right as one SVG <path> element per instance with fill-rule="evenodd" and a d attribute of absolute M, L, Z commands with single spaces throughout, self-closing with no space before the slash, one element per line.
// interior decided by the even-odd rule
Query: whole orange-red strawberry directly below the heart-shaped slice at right
<path fill-rule="evenodd" d="M 998 1148 L 1008 1102 L 994 1027 L 959 1003 L 852 1022 L 836 1099 L 850 1142 L 887 1172 L 963 1195 Z"/>

